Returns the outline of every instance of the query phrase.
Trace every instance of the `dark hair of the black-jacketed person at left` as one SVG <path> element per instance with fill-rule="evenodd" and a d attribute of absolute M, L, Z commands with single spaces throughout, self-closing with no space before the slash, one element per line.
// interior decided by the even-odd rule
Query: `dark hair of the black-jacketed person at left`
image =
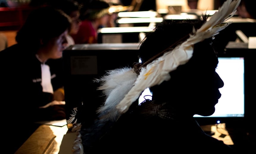
<path fill-rule="evenodd" d="M 26 22 L 17 32 L 17 43 L 39 47 L 40 39 L 48 41 L 69 30 L 71 19 L 64 12 L 52 7 L 40 7 L 33 10 Z"/>

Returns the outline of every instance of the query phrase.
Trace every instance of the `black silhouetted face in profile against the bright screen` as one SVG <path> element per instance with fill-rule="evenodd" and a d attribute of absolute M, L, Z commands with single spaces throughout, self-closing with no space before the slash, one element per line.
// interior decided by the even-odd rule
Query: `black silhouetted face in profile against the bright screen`
<path fill-rule="evenodd" d="M 195 44 L 193 57 L 185 65 L 171 72 L 170 89 L 181 112 L 209 116 L 221 97 L 223 81 L 216 73 L 218 58 L 209 44 Z M 170 97 L 172 99 L 172 97 Z"/>

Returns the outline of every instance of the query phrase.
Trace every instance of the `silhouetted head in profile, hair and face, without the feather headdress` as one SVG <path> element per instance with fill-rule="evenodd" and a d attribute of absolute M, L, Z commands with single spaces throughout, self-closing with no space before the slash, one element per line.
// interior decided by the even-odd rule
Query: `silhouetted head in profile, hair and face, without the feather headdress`
<path fill-rule="evenodd" d="M 206 20 L 204 16 L 203 20 L 164 20 L 157 24 L 141 44 L 139 57 L 142 63 L 156 59 L 163 53 L 156 55 L 165 49 L 184 42 L 192 34 L 193 27 L 199 29 Z M 152 100 L 160 104 L 168 102 L 181 115 L 212 115 L 221 96 L 218 89 L 223 86 L 215 72 L 218 57 L 213 44 L 212 38 L 194 44 L 191 59 L 171 71 L 169 81 L 150 88 Z"/>

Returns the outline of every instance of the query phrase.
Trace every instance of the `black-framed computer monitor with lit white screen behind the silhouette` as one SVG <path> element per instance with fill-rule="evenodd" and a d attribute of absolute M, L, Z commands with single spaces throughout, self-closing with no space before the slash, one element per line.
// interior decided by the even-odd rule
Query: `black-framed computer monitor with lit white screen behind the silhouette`
<path fill-rule="evenodd" d="M 254 94 L 255 77 L 253 57 L 255 51 L 249 49 L 225 49 L 218 54 L 218 67 L 216 72 L 224 81 L 220 88 L 221 98 L 215 105 L 215 113 L 210 116 L 194 115 L 199 125 L 211 125 L 217 123 L 246 123 L 255 117 Z M 254 90 L 255 92 L 255 90 Z M 148 96 L 147 96 L 148 95 Z M 149 89 L 146 89 L 139 103 L 151 99 Z M 144 98 L 145 97 L 145 98 Z M 207 102 L 206 102 L 207 103 Z"/>

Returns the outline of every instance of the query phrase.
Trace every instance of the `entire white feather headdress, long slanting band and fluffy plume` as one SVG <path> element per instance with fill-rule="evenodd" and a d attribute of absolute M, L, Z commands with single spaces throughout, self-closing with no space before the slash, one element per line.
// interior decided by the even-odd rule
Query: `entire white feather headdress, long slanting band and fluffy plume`
<path fill-rule="evenodd" d="M 138 99 L 141 93 L 149 87 L 159 85 L 170 80 L 170 72 L 179 65 L 185 64 L 192 57 L 193 45 L 204 39 L 215 36 L 226 28 L 227 22 L 236 12 L 241 0 L 227 0 L 210 19 L 193 33 L 183 43 L 174 49 L 169 49 L 162 56 L 142 67 L 139 75 L 133 68 L 110 70 L 102 78 L 95 79 L 100 82 L 100 90 L 107 99 L 104 106 L 99 108 L 103 120 L 116 120 L 121 114 L 127 112 L 130 105 Z"/>

